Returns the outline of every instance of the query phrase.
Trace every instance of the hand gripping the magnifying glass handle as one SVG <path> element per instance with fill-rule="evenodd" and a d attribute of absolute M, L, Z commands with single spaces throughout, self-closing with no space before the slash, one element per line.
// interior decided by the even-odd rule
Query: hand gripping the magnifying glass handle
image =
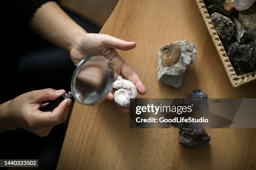
<path fill-rule="evenodd" d="M 55 100 L 65 90 L 43 89 L 24 93 L 0 105 L 0 133 L 23 128 L 38 136 L 47 136 L 53 126 L 66 120 L 71 99 L 63 100 L 54 110 L 43 112 L 42 101 Z"/>

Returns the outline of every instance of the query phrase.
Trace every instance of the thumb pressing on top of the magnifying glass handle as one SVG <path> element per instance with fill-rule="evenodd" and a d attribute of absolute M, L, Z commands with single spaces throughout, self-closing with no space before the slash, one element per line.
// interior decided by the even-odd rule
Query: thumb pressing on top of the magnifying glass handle
<path fill-rule="evenodd" d="M 45 101 L 45 100 L 55 100 L 61 95 L 65 94 L 65 90 L 54 90 L 51 88 L 35 90 L 31 92 L 31 99 L 33 101 Z"/>

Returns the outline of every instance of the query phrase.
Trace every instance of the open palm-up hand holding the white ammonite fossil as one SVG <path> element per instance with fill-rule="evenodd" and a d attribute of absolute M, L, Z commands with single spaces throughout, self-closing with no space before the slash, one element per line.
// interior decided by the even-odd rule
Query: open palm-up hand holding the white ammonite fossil
<path fill-rule="evenodd" d="M 116 49 L 131 50 L 136 47 L 135 42 L 127 42 L 106 34 L 84 34 L 76 40 L 70 50 L 70 56 L 75 65 L 83 58 L 91 54 L 99 54 L 110 61 L 110 67 L 118 75 L 123 75 L 133 82 L 141 95 L 146 93 L 145 86 L 133 69 L 124 61 Z M 112 93 L 108 95 L 109 100 L 113 100 Z M 121 108 L 122 112 L 129 111 L 128 108 Z"/>

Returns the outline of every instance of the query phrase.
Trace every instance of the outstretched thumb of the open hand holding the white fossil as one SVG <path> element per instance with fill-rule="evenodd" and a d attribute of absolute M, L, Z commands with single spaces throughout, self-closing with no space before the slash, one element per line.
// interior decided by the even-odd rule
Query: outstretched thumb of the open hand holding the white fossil
<path fill-rule="evenodd" d="M 105 34 L 103 34 L 102 41 L 108 48 L 113 48 L 113 49 L 127 51 L 127 50 L 134 49 L 136 47 L 136 42 L 127 42 L 127 41 L 118 39 L 116 37 L 112 37 L 110 35 L 105 35 Z"/>

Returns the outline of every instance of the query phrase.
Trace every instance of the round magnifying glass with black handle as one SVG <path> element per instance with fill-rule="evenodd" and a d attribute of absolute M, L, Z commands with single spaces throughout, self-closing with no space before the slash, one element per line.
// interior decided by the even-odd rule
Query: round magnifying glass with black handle
<path fill-rule="evenodd" d="M 100 55 L 90 55 L 75 68 L 71 79 L 71 91 L 42 107 L 51 111 L 66 98 L 74 98 L 80 104 L 96 105 L 106 99 L 114 80 L 109 61 Z"/>

